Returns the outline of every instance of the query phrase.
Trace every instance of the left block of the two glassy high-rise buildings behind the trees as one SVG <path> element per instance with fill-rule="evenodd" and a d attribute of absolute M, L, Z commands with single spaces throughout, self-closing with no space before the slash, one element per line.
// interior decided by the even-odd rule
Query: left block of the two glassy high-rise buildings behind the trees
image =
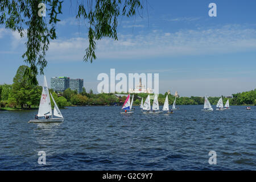
<path fill-rule="evenodd" d="M 65 89 L 69 88 L 69 77 L 52 77 L 51 88 L 57 92 L 64 92 Z"/>

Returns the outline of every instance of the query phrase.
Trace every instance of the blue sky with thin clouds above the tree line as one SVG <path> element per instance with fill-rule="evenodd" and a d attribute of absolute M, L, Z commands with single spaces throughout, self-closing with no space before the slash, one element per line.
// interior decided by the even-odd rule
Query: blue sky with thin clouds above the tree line
<path fill-rule="evenodd" d="M 146 1 L 145 1 L 146 2 Z M 208 5 L 217 5 L 209 17 Z M 99 73 L 159 73 L 159 92 L 180 96 L 221 96 L 256 88 L 256 1 L 148 1 L 141 16 L 120 18 L 118 41 L 97 41 L 97 60 L 84 63 L 86 23 L 64 1 L 58 39 L 51 42 L 45 70 L 83 78 L 97 92 Z M 0 27 L 0 84 L 11 84 L 23 63 L 26 38 Z M 38 77 L 42 84 L 42 76 Z"/>

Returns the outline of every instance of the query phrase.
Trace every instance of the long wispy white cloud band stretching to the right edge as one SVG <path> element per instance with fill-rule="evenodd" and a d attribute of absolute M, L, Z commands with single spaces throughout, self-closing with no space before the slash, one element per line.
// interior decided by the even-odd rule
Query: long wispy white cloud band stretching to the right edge
<path fill-rule="evenodd" d="M 159 56 L 214 55 L 256 51 L 256 30 L 237 25 L 199 28 L 176 32 L 152 31 L 139 35 L 118 35 L 118 41 L 104 38 L 97 43 L 100 59 L 135 59 Z M 50 45 L 50 56 L 61 60 L 81 60 L 88 46 L 86 38 L 56 40 Z"/>

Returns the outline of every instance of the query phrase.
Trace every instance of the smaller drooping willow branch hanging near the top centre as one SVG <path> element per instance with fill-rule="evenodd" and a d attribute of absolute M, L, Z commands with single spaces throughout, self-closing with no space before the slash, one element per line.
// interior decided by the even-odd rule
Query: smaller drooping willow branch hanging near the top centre
<path fill-rule="evenodd" d="M 97 0 L 93 7 L 92 0 L 87 1 L 88 10 L 84 4 L 79 5 L 79 11 L 76 18 L 88 19 L 88 40 L 89 46 L 85 49 L 86 55 L 84 61 L 96 59 L 95 40 L 100 40 L 103 37 L 109 37 L 114 40 L 117 38 L 118 16 L 134 16 L 136 10 L 142 9 L 142 4 L 139 0 Z M 121 9 L 121 10 L 120 10 Z"/>

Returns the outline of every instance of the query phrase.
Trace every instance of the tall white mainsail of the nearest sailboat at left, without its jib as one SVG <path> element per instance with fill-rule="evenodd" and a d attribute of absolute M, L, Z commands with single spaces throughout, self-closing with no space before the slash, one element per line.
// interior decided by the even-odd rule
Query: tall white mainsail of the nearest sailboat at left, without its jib
<path fill-rule="evenodd" d="M 43 117 L 45 115 L 52 115 L 51 99 L 49 97 L 46 76 L 44 76 L 43 92 L 40 100 L 38 117 Z"/>

